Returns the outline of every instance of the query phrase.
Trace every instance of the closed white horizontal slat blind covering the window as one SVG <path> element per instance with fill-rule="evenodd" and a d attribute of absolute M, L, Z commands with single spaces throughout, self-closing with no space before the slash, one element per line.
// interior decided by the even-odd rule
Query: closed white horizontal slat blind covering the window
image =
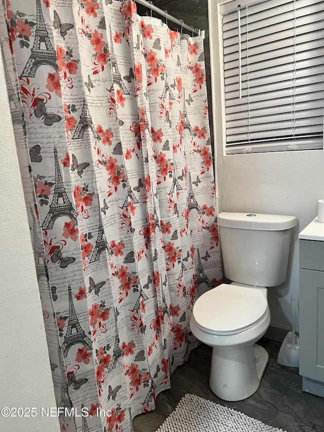
<path fill-rule="evenodd" d="M 324 1 L 245 3 L 221 6 L 226 153 L 323 148 Z"/>

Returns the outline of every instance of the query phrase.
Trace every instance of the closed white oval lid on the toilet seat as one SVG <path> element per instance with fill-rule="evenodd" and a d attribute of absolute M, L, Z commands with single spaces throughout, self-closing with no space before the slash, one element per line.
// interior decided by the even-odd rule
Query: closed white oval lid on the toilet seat
<path fill-rule="evenodd" d="M 258 289 L 222 284 L 197 299 L 193 318 L 207 333 L 235 334 L 260 322 L 267 308 L 267 300 Z"/>

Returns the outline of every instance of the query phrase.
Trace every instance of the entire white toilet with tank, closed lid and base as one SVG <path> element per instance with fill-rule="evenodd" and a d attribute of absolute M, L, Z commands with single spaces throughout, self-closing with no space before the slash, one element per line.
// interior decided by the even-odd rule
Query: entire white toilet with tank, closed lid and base
<path fill-rule="evenodd" d="M 201 295 L 190 320 L 192 333 L 213 347 L 209 383 L 225 401 L 253 395 L 268 363 L 255 342 L 270 324 L 266 287 L 286 280 L 294 216 L 220 213 L 217 217 L 226 278 Z"/>

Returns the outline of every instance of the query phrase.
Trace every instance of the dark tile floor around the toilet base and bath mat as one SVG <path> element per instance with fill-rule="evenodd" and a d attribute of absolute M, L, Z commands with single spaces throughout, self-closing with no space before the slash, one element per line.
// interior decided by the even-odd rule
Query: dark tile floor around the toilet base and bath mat
<path fill-rule="evenodd" d="M 208 383 L 212 348 L 201 344 L 185 365 L 177 367 L 171 389 L 157 396 L 155 410 L 134 419 L 134 432 L 154 432 L 185 393 L 228 406 L 287 432 L 324 432 L 324 398 L 302 392 L 297 368 L 277 364 L 281 342 L 262 338 L 258 343 L 268 351 L 269 364 L 259 389 L 250 398 L 225 402 L 213 394 Z"/>

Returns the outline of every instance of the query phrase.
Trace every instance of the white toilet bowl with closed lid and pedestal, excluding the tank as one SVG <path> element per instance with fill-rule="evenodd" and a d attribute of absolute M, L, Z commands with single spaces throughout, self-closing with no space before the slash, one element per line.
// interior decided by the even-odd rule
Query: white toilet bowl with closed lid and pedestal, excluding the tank
<path fill-rule="evenodd" d="M 267 351 L 255 343 L 270 324 L 266 289 L 251 288 L 222 284 L 207 291 L 190 321 L 196 338 L 213 347 L 209 383 L 226 401 L 253 395 L 268 363 Z"/>

